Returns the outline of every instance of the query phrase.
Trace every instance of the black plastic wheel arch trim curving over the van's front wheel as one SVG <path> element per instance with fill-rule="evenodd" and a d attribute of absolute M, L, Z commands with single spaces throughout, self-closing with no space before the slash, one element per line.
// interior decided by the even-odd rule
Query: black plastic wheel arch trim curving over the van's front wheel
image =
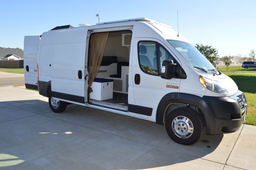
<path fill-rule="evenodd" d="M 202 97 L 187 94 L 187 93 L 168 93 L 159 102 L 156 110 L 156 123 L 164 124 L 164 111 L 170 103 L 184 103 L 191 104 L 198 107 L 204 114 L 206 123 L 206 133 L 215 134 L 215 118 L 209 105 L 202 99 Z"/>

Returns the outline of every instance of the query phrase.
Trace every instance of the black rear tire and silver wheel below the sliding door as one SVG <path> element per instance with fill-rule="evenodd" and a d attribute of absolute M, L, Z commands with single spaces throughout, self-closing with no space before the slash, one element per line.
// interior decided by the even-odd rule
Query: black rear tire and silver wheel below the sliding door
<path fill-rule="evenodd" d="M 49 106 L 55 113 L 61 113 L 66 110 L 67 102 L 60 101 L 52 97 L 52 93 L 49 94 L 48 97 Z"/>

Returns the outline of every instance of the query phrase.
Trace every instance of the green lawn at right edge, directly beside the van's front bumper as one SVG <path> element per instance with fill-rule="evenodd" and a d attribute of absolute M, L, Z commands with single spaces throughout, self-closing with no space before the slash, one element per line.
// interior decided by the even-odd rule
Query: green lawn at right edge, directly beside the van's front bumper
<path fill-rule="evenodd" d="M 256 126 L 256 74 L 225 73 L 232 78 L 238 89 L 243 91 L 247 100 L 245 124 Z"/>

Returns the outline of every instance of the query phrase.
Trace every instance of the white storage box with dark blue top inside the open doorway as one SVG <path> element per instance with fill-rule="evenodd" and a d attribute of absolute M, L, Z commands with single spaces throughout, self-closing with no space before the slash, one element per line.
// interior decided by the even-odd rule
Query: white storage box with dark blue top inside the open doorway
<path fill-rule="evenodd" d="M 107 100 L 113 98 L 113 80 L 111 79 L 95 78 L 91 88 L 91 99 Z"/>

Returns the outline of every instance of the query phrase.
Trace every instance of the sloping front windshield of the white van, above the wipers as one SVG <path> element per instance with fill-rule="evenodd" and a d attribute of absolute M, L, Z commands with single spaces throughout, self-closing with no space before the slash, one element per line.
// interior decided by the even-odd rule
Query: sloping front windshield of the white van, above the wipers
<path fill-rule="evenodd" d="M 195 70 L 203 71 L 200 68 L 203 68 L 205 72 L 207 70 L 215 70 L 214 66 L 212 66 L 210 61 L 205 58 L 204 55 L 201 54 L 201 52 L 199 52 L 192 44 L 177 40 L 167 41 Z"/>

